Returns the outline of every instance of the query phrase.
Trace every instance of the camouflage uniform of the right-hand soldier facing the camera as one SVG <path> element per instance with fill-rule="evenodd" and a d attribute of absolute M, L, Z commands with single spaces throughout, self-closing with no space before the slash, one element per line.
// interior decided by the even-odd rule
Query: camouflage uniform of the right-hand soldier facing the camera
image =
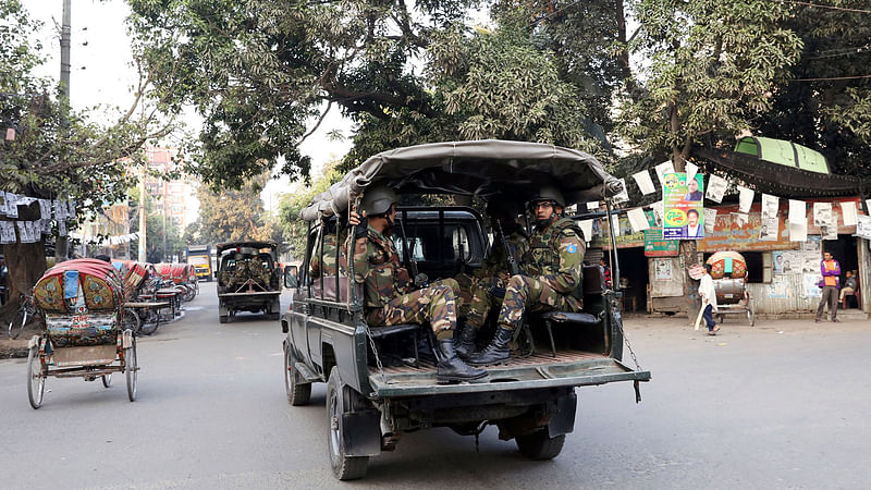
<path fill-rule="evenodd" d="M 505 289 L 499 324 L 510 330 L 519 327 L 527 307 L 532 311 L 579 311 L 584 307 L 580 285 L 585 252 L 584 233 L 568 218 L 537 229 L 522 273 L 512 277 Z"/>

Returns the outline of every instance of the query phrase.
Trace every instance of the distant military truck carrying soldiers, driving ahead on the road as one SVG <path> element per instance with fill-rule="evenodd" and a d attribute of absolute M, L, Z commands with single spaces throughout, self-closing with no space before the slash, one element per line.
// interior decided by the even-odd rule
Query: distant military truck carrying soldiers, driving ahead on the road
<path fill-rule="evenodd" d="M 218 318 L 226 323 L 238 311 L 281 314 L 281 277 L 273 242 L 231 242 L 217 246 Z"/>

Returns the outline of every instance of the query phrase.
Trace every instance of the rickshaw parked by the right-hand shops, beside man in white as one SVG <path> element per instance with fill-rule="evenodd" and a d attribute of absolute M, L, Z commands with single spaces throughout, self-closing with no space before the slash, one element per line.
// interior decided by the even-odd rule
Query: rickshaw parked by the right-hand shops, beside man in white
<path fill-rule="evenodd" d="M 720 322 L 726 315 L 746 315 L 750 327 L 756 324 L 753 298 L 747 291 L 747 261 L 737 252 L 717 252 L 707 260 L 716 291 L 716 311 Z"/>

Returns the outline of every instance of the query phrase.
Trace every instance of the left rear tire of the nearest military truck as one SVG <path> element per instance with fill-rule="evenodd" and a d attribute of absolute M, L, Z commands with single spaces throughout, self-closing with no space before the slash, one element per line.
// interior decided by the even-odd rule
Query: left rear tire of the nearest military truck
<path fill-rule="evenodd" d="M 363 478 L 369 466 L 369 456 L 345 455 L 342 414 L 351 411 L 352 391 L 339 377 L 339 368 L 333 366 L 327 382 L 327 453 L 333 476 L 340 480 Z"/>

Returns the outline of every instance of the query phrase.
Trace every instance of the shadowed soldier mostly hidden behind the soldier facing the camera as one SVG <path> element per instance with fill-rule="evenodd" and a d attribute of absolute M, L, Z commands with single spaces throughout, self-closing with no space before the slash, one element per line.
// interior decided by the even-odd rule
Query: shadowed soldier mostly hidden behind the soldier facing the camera
<path fill-rule="evenodd" d="M 490 247 L 490 256 L 471 277 L 469 304 L 459 307 L 461 316 L 466 318 L 466 326 L 459 329 L 456 353 L 463 359 L 467 359 L 475 351 L 478 329 L 487 321 L 490 309 L 493 306 L 502 305 L 505 287 L 512 277 L 512 266 L 508 261 L 505 242 L 507 242 L 507 248 L 511 249 L 514 267 L 519 267 L 523 256 L 529 249 L 529 237 L 523 226 L 517 223 L 519 206 L 505 196 L 495 196 L 487 203 L 486 212 L 490 218 L 493 244 Z M 503 242 L 503 234 L 505 242 Z"/>

